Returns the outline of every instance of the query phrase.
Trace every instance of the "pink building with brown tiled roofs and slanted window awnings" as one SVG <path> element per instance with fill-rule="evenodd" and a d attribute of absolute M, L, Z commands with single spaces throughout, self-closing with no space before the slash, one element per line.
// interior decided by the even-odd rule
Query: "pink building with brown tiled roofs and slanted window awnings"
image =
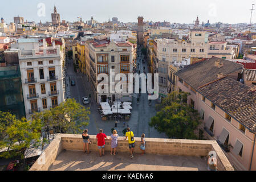
<path fill-rule="evenodd" d="M 189 92 L 188 104 L 200 113 L 200 135 L 217 140 L 234 168 L 256 170 L 256 88 L 238 81 L 242 70 L 240 64 L 213 57 L 174 75 L 176 90 Z"/>

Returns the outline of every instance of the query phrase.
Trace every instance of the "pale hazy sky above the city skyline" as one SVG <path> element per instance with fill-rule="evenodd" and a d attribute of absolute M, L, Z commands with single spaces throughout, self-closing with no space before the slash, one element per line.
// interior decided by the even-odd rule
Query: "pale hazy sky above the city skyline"
<path fill-rule="evenodd" d="M 41 3 L 41 4 L 40 4 Z M 45 5 L 43 9 L 38 5 Z M 0 16 L 7 23 L 13 22 L 13 16 L 23 16 L 25 21 L 38 23 L 51 21 L 51 13 L 56 5 L 61 20 L 84 21 L 94 19 L 99 22 L 117 17 L 120 22 L 137 22 L 137 16 L 153 22 L 193 23 L 199 16 L 200 23 L 249 23 L 251 4 L 256 0 L 7 0 L 1 1 Z M 255 7 L 255 6 L 254 6 Z M 255 7 L 256 9 L 256 7 Z M 38 16 L 39 12 L 39 16 Z M 254 11 L 252 22 L 256 22 Z"/>

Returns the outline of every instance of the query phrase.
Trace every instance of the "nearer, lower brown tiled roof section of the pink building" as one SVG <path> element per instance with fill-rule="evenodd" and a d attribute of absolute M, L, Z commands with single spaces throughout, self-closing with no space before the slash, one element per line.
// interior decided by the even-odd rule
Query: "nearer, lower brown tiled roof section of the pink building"
<path fill-rule="evenodd" d="M 251 129 L 256 123 L 256 92 L 233 78 L 225 77 L 198 89 L 205 98 Z"/>

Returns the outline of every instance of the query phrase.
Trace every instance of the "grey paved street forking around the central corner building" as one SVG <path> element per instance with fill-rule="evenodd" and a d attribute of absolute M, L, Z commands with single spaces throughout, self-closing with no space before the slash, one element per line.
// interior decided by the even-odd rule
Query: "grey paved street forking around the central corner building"
<path fill-rule="evenodd" d="M 73 68 L 73 60 L 67 60 L 67 96 L 68 98 L 75 98 L 80 104 L 85 107 L 90 107 L 91 114 L 89 115 L 90 121 L 87 129 L 89 134 L 97 134 L 99 129 L 103 129 L 104 133 L 107 135 L 111 134 L 111 129 L 115 128 L 120 136 L 123 136 L 124 126 L 127 125 L 131 128 L 136 137 L 141 137 L 142 133 L 145 133 L 147 138 L 168 138 L 165 134 L 160 134 L 155 129 L 149 127 L 148 123 L 151 121 L 151 117 L 156 115 L 155 105 L 156 100 L 152 100 L 152 105 L 149 105 L 148 94 L 141 94 L 139 105 L 135 97 L 132 97 L 132 110 L 131 119 L 128 121 L 119 121 L 117 127 L 115 127 L 115 121 L 102 121 L 99 112 L 97 111 L 97 104 L 94 98 L 91 98 L 91 103 L 84 105 L 82 102 L 82 97 L 87 96 L 91 93 L 90 84 L 86 75 L 82 73 L 75 73 Z M 140 73 L 143 73 L 143 67 L 145 67 L 145 72 L 148 73 L 147 63 L 143 63 L 142 58 L 137 59 L 137 63 L 140 63 Z M 69 80 L 70 79 L 70 80 Z M 71 86 L 71 80 L 76 82 L 75 86 Z M 92 95 L 92 94 L 91 94 Z"/>

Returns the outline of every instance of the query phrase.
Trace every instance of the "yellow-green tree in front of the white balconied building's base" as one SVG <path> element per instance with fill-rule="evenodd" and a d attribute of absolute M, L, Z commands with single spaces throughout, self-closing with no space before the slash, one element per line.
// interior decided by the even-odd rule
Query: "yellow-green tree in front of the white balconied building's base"
<path fill-rule="evenodd" d="M 56 133 L 78 134 L 88 125 L 89 109 L 85 109 L 74 98 L 68 98 L 51 110 L 35 113 L 33 117 L 40 119 L 46 127 L 55 127 Z"/>

